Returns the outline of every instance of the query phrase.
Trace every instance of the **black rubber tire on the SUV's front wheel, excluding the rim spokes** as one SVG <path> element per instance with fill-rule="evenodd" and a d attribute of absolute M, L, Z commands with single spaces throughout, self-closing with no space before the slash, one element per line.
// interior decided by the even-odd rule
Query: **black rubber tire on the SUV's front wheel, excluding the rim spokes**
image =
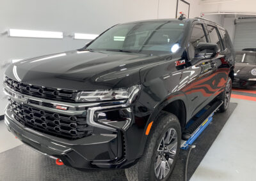
<path fill-rule="evenodd" d="M 163 179 L 158 179 L 157 178 L 157 161 L 163 159 L 159 159 L 159 157 L 166 157 L 167 153 L 169 154 L 168 148 L 163 144 L 163 154 L 160 156 L 159 154 L 159 149 L 161 143 L 165 141 L 165 138 L 171 138 L 170 137 L 164 137 L 169 135 L 168 133 L 171 133 L 175 129 L 177 133 L 177 148 L 175 151 L 175 155 L 172 155 L 172 164 L 168 164 L 169 166 L 169 171 L 168 174 Z M 175 133 L 173 131 L 173 135 Z M 167 133 L 167 134 L 166 134 Z M 176 135 L 176 134 L 175 134 Z M 164 140 L 163 140 L 164 138 Z M 173 138 L 173 136 L 172 136 Z M 174 138 L 173 138 L 174 139 Z M 125 175 L 129 181 L 141 181 L 141 180 L 169 180 L 170 175 L 172 174 L 173 168 L 175 166 L 175 163 L 177 161 L 177 157 L 179 155 L 179 150 L 180 150 L 180 139 L 181 139 L 181 131 L 180 131 L 180 123 L 179 119 L 173 115 L 172 113 L 168 112 L 161 112 L 159 113 L 159 116 L 157 119 L 154 121 L 152 129 L 150 130 L 150 134 L 148 136 L 148 140 L 145 146 L 144 154 L 141 156 L 140 160 L 138 163 L 136 163 L 134 166 L 131 168 L 125 169 Z M 170 140 L 170 139 L 169 139 Z M 173 144 L 172 141 L 169 143 L 170 145 Z M 176 145 L 176 142 L 175 142 Z M 168 146 L 168 145 L 167 145 Z M 173 146 L 172 146 L 173 147 Z M 165 149 L 166 148 L 166 149 Z M 166 152 L 167 151 L 167 152 Z M 166 156 L 164 154 L 166 152 Z M 171 150 L 170 150 L 171 152 Z M 170 158 L 167 156 L 166 161 L 169 161 Z M 160 161 L 160 163 L 161 163 Z M 159 162 L 158 162 L 159 163 Z M 158 168 L 160 168 L 160 164 L 158 164 Z M 161 171 L 159 171 L 161 172 Z M 159 173 L 158 172 L 158 173 Z M 162 172 L 161 172 L 162 173 Z M 161 174 L 159 173 L 159 174 Z"/>

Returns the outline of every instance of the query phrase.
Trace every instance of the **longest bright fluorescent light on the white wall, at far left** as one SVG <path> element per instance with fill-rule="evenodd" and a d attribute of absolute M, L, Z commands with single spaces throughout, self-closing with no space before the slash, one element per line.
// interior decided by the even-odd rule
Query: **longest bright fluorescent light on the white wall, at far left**
<path fill-rule="evenodd" d="M 31 37 L 31 38 L 63 38 L 62 32 L 57 31 L 35 31 L 26 29 L 9 29 L 9 36 Z"/>

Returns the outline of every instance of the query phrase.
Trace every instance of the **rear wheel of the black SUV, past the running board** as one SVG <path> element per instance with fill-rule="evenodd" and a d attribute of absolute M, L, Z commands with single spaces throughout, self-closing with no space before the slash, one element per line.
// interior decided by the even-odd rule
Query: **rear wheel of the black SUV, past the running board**
<path fill-rule="evenodd" d="M 228 105 L 230 103 L 230 96 L 232 92 L 232 80 L 228 76 L 228 80 L 225 86 L 225 91 L 221 92 L 220 100 L 223 101 L 223 104 L 219 108 L 219 112 L 225 112 L 228 109 Z"/>

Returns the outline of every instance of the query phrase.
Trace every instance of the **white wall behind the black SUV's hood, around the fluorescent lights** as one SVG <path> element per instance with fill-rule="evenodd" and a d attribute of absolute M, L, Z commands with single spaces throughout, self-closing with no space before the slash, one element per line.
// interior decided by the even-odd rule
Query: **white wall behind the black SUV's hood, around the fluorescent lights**
<path fill-rule="evenodd" d="M 159 3 L 159 4 L 158 4 Z M 0 6 L 0 82 L 12 59 L 81 48 L 88 40 L 72 33 L 99 34 L 112 25 L 135 20 L 175 18 L 177 0 L 8 0 Z M 199 0 L 189 0 L 191 17 L 200 15 Z M 158 10 L 159 5 L 159 10 Z M 157 13 L 158 12 L 158 13 Z M 64 38 L 10 38 L 8 29 L 63 31 Z M 0 89 L 2 89 L 0 84 Z M 6 98 L 0 91 L 0 115 Z"/>

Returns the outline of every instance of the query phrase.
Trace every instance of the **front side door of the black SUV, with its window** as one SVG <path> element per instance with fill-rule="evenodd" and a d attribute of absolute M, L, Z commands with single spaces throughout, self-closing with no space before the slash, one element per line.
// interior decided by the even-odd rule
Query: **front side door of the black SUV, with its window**
<path fill-rule="evenodd" d="M 195 48 L 200 42 L 209 42 L 207 40 L 204 24 L 196 24 L 193 26 L 188 47 L 189 61 L 193 60 Z M 211 66 L 211 59 L 205 59 L 204 61 L 190 66 L 188 71 L 195 72 L 195 75 L 189 77 L 188 85 L 184 87 L 182 91 L 185 92 L 190 101 L 189 113 L 192 117 L 208 103 L 209 97 L 216 91 L 212 86 L 215 77 L 212 75 L 213 68 Z"/>

